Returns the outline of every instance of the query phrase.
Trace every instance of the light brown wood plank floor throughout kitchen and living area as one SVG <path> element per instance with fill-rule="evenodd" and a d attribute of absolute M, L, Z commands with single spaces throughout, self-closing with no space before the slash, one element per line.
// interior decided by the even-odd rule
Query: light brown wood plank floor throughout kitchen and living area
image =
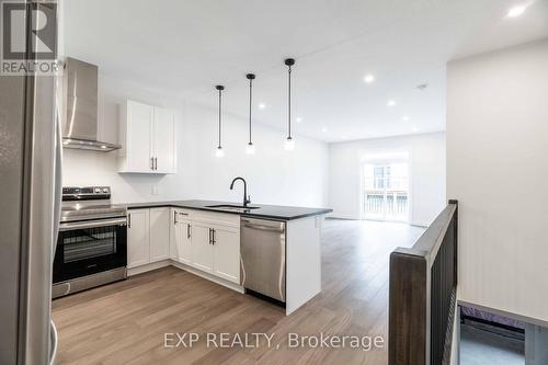
<path fill-rule="evenodd" d="M 327 220 L 322 292 L 288 317 L 270 303 L 174 267 L 56 299 L 57 364 L 386 364 L 386 342 L 372 351 L 288 349 L 288 333 L 387 340 L 388 256 L 422 231 L 401 224 Z M 198 333 L 201 340 L 168 349 L 167 332 Z M 207 346 L 209 332 L 228 332 L 230 339 L 274 335 L 271 346 L 262 339 L 255 347 L 218 349 Z"/>

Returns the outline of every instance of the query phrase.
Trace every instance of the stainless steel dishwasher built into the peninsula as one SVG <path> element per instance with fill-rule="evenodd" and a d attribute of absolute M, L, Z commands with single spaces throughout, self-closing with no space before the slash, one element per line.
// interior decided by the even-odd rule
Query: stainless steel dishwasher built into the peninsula
<path fill-rule="evenodd" d="M 241 282 L 247 290 L 285 303 L 285 223 L 242 217 Z"/>

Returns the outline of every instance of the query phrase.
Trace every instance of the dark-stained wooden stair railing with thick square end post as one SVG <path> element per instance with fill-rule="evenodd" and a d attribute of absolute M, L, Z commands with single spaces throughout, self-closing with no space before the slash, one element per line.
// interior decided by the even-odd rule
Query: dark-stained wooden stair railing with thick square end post
<path fill-rule="evenodd" d="M 449 201 L 412 248 L 398 248 L 390 254 L 390 365 L 448 362 L 457 287 L 457 225 L 458 203 Z"/>

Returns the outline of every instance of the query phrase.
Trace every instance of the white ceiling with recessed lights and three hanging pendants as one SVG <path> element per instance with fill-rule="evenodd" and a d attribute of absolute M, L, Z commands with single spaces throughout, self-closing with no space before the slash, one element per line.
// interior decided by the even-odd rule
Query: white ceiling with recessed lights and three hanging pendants
<path fill-rule="evenodd" d="M 225 84 L 225 111 L 246 118 L 254 72 L 254 121 L 281 129 L 290 56 L 297 136 L 426 133 L 445 129 L 447 60 L 548 36 L 548 0 L 505 16 L 523 1 L 64 0 L 65 52 L 213 107 L 215 84 Z"/>

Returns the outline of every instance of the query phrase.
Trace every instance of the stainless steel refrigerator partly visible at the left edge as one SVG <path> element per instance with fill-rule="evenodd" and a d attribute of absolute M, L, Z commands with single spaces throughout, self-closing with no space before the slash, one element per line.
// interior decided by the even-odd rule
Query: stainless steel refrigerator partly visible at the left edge
<path fill-rule="evenodd" d="M 28 49 L 36 15 L 25 15 L 19 32 Z M 50 364 L 57 345 L 50 295 L 62 149 L 55 91 L 54 76 L 0 76 L 0 364 Z"/>

